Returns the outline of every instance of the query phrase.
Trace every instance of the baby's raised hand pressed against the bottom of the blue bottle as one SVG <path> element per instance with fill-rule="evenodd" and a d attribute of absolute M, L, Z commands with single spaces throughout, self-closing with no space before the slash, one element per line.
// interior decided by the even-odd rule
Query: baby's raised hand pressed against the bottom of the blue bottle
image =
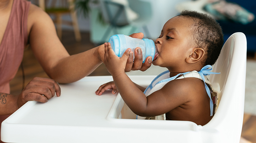
<path fill-rule="evenodd" d="M 115 52 L 111 48 L 110 43 L 105 43 L 105 54 L 104 54 L 104 64 L 108 72 L 113 76 L 118 76 L 125 72 L 126 62 L 129 54 L 132 54 L 132 50 L 128 48 L 128 52 L 125 52 L 121 58 L 116 56 Z"/>

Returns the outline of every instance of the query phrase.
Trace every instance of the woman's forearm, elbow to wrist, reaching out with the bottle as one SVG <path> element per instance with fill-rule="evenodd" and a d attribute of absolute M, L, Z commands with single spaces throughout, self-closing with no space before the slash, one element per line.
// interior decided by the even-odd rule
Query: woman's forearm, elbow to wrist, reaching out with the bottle
<path fill-rule="evenodd" d="M 46 70 L 46 73 L 59 83 L 71 83 L 82 79 L 102 63 L 101 58 L 104 53 L 99 55 L 101 50 L 100 46 L 98 46 L 88 51 L 62 58 L 50 71 Z"/>

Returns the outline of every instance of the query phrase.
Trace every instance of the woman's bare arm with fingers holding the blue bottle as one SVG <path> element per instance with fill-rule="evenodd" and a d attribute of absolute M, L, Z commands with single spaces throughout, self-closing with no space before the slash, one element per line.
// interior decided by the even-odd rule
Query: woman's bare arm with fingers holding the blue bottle
<path fill-rule="evenodd" d="M 59 83 L 74 82 L 89 75 L 104 60 L 104 45 L 70 56 L 57 37 L 49 15 L 34 5 L 30 7 L 28 26 L 31 27 L 29 41 L 35 57 L 49 77 Z M 142 33 L 132 36 L 143 38 Z M 152 58 L 148 57 L 142 64 L 142 54 L 136 51 L 135 57 L 134 63 L 132 56 L 128 58 L 126 71 L 144 71 L 151 66 Z"/>

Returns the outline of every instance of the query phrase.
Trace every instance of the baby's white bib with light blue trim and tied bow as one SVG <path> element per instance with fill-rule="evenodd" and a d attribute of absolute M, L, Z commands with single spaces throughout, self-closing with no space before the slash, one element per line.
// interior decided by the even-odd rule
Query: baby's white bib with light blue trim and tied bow
<path fill-rule="evenodd" d="M 217 91 L 215 91 L 212 88 L 212 84 L 210 83 L 210 81 L 208 80 L 206 75 L 220 74 L 220 73 L 213 73 L 213 72 L 210 72 L 210 70 L 212 70 L 212 66 L 207 65 L 207 66 L 203 67 L 199 72 L 194 70 L 194 71 L 191 71 L 191 72 L 180 73 L 180 74 L 177 74 L 176 76 L 173 76 L 173 77 L 169 76 L 170 72 L 167 70 L 167 71 L 159 74 L 150 83 L 150 85 L 145 89 L 144 94 L 146 96 L 148 96 L 148 95 L 152 94 L 153 92 L 158 91 L 163 86 L 165 86 L 166 83 L 168 83 L 169 81 L 176 80 L 176 79 L 183 79 L 183 78 L 187 78 L 187 77 L 195 77 L 195 78 L 198 78 L 198 79 L 204 81 L 204 83 L 205 83 L 205 89 L 206 89 L 206 92 L 207 92 L 207 94 L 210 98 L 211 116 L 213 116 L 213 106 L 215 106 L 215 108 L 214 108 L 214 113 L 215 113 L 216 110 L 217 110 L 219 94 L 218 94 Z M 182 75 L 182 76 L 178 77 L 179 75 Z M 204 77 L 204 78 L 202 78 L 202 77 Z M 137 115 L 137 119 L 166 120 L 166 116 L 165 116 L 165 114 L 155 116 L 155 117 L 141 117 L 141 116 Z"/>

